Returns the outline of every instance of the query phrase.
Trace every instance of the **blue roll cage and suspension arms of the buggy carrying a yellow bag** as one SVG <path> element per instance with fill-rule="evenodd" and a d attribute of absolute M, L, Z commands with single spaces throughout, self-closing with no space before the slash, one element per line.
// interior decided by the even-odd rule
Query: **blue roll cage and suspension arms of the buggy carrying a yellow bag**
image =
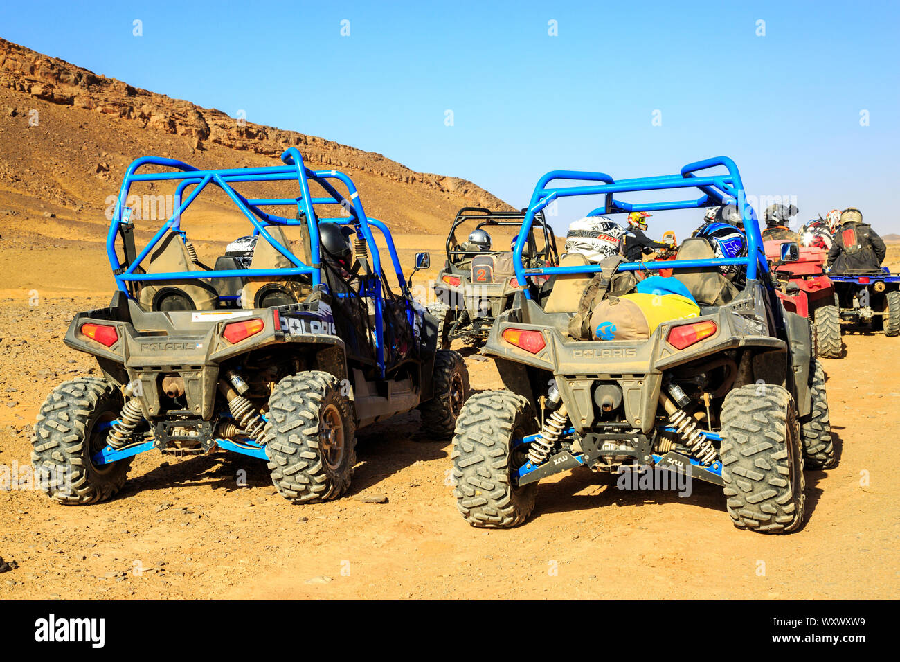
<path fill-rule="evenodd" d="M 703 170 L 710 168 L 724 167 L 728 170 L 727 174 L 698 174 Z M 575 180 L 595 182 L 589 186 L 548 186 L 556 180 Z M 661 203 L 627 203 L 618 200 L 614 195 L 621 193 L 634 193 L 639 191 L 662 191 L 662 190 L 678 190 L 681 188 L 697 188 L 703 195 L 695 200 L 676 200 L 673 202 Z M 762 244 L 762 236 L 760 224 L 757 221 L 755 210 L 747 203 L 746 194 L 743 188 L 743 180 L 741 173 L 732 159 L 728 157 L 714 157 L 712 159 L 704 159 L 689 163 L 681 168 L 677 175 L 662 175 L 660 177 L 635 177 L 632 179 L 620 179 L 616 181 L 609 175 L 602 172 L 584 172 L 581 170 L 552 170 L 546 173 L 537 181 L 535 192 L 531 195 L 531 202 L 528 204 L 528 211 L 525 219 L 522 221 L 522 228 L 516 240 L 516 246 L 513 249 L 513 266 L 516 269 L 516 277 L 520 283 L 526 282 L 527 276 L 549 275 L 554 274 L 588 274 L 597 273 L 600 270 L 598 265 L 572 266 L 572 267 L 540 267 L 525 268 L 522 263 L 522 251 L 525 249 L 528 232 L 531 230 L 532 222 L 534 222 L 535 214 L 543 210 L 548 204 L 561 197 L 574 195 L 604 195 L 606 197 L 606 205 L 592 210 L 588 215 L 628 213 L 628 212 L 652 212 L 666 211 L 672 209 L 694 209 L 703 207 L 712 207 L 722 204 L 736 204 L 738 211 L 744 222 L 744 233 L 747 236 L 747 256 L 744 258 L 725 258 L 725 259 L 674 259 L 659 262 L 626 262 L 619 266 L 621 271 L 638 271 L 642 269 L 660 269 L 660 268 L 696 268 L 696 267 L 721 267 L 725 265 L 740 265 L 747 269 L 747 280 L 756 280 L 760 273 L 769 272 L 769 262 L 766 259 L 765 249 Z M 766 282 L 768 290 L 772 290 L 771 284 Z M 522 295 L 527 299 L 531 298 L 531 293 L 527 290 L 522 291 Z M 703 431 L 707 439 L 721 440 L 715 433 Z M 572 430 L 566 431 L 565 434 L 572 434 Z M 530 435 L 522 440 L 515 440 L 514 446 L 521 443 L 530 443 L 535 439 L 536 435 Z M 581 456 L 574 458 L 583 464 Z M 654 462 L 658 462 L 660 456 L 653 456 Z M 693 458 L 690 458 L 693 465 L 699 467 L 699 464 Z M 527 476 L 538 467 L 533 467 L 531 463 L 527 463 L 519 467 L 513 472 L 513 479 L 518 481 L 523 476 Z M 712 467 L 701 467 L 716 476 L 722 475 L 722 465 L 719 462 L 714 463 Z M 671 469 L 673 470 L 673 469 Z"/>

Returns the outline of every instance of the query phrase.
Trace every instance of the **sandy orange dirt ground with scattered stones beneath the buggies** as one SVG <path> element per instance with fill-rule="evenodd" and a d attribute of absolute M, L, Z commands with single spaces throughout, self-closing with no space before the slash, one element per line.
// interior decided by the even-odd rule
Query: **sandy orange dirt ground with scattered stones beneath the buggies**
<path fill-rule="evenodd" d="M 61 337 L 105 298 L 0 301 L 0 466 L 29 463 L 40 402 L 93 367 Z M 261 462 L 223 452 L 141 455 L 109 503 L 6 493 L 0 556 L 18 568 L 0 599 L 896 597 L 900 340 L 845 341 L 847 358 L 824 361 L 839 463 L 806 472 L 808 520 L 792 535 L 735 530 L 712 485 L 623 492 L 586 470 L 542 483 L 526 525 L 475 530 L 446 485 L 450 445 L 417 440 L 412 413 L 360 435 L 351 493 L 332 503 L 292 506 Z M 475 387 L 500 385 L 491 362 L 467 364 Z M 388 503 L 359 500 L 371 494 Z"/>

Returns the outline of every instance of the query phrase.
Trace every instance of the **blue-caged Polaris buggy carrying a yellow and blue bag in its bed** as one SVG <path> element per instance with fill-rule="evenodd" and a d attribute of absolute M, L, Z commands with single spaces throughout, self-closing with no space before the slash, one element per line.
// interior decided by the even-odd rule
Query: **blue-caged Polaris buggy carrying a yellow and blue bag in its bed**
<path fill-rule="evenodd" d="M 578 184 L 563 186 L 565 180 Z M 684 189 L 701 195 L 684 199 Z M 630 192 L 671 197 L 619 197 Z M 714 258 L 707 240 L 691 238 L 671 261 L 591 264 L 570 254 L 559 267 L 527 268 L 521 255 L 536 213 L 554 199 L 582 195 L 602 195 L 595 212 L 608 215 L 739 204 L 748 255 Z M 786 242 L 782 250 L 787 260 L 797 245 Z M 473 395 L 456 423 L 455 496 L 467 521 L 526 521 L 537 482 L 572 468 L 655 467 L 721 485 L 739 528 L 782 533 L 802 524 L 805 461 L 807 468 L 834 461 L 824 372 L 811 351 L 809 322 L 787 312 L 776 295 L 731 159 L 625 180 L 549 172 L 537 183 L 514 255 L 518 281 L 529 286 L 498 316 L 482 350 L 495 359 L 506 389 Z M 730 267 L 740 272 L 734 281 L 720 270 Z M 687 287 L 698 316 L 660 322 L 645 340 L 573 335 L 589 293 L 611 306 L 609 293 L 622 295 L 617 287 L 634 281 L 633 272 L 662 268 Z M 552 278 L 542 286 L 527 281 L 536 276 Z M 604 337 L 603 324 L 597 331 Z"/>

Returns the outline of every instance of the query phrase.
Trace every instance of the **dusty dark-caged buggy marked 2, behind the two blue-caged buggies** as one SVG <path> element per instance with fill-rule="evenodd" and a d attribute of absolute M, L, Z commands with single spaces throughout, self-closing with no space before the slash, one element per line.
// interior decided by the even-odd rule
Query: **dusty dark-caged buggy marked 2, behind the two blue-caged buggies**
<path fill-rule="evenodd" d="M 460 243 L 456 232 L 461 226 L 468 234 L 474 230 L 518 228 L 525 218 L 520 212 L 491 212 L 482 207 L 464 207 L 456 213 L 446 240 L 446 263 L 437 275 L 437 301 L 428 310 L 440 321 L 440 346 L 450 349 L 456 339 L 474 347 L 482 345 L 494 319 L 509 310 L 513 295 L 522 289 L 512 265 L 512 250 L 482 251 Z M 529 267 L 552 267 L 559 262 L 556 238 L 543 213 L 536 214 L 535 232 L 527 235 L 523 259 Z M 500 237 L 495 243 L 504 241 Z M 509 240 L 506 240 L 509 242 Z M 539 277 L 540 278 L 540 277 Z"/>

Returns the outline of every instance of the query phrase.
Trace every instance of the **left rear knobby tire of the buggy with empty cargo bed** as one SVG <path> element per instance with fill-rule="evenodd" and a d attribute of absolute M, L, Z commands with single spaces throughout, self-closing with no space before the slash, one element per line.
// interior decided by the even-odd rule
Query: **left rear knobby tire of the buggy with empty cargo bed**
<path fill-rule="evenodd" d="M 106 446 L 109 428 L 119 417 L 122 397 L 104 379 L 78 377 L 58 385 L 40 406 L 31 438 L 35 483 L 59 503 L 84 505 L 112 497 L 125 485 L 131 458 L 94 465 L 92 456 Z"/>

